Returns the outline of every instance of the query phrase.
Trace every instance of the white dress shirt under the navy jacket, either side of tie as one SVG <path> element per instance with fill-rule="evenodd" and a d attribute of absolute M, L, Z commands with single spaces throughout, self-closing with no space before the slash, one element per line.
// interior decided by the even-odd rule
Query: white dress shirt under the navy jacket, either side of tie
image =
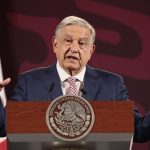
<path fill-rule="evenodd" d="M 62 93 L 63 93 L 63 95 L 66 95 L 66 90 L 70 86 L 69 82 L 67 81 L 67 78 L 70 77 L 70 74 L 68 74 L 63 68 L 61 68 L 58 62 L 56 64 L 56 69 L 57 69 L 58 75 L 61 80 Z M 81 72 L 79 74 L 73 76 L 77 79 L 76 86 L 77 86 L 77 90 L 79 91 L 79 96 L 81 96 L 81 94 L 82 94 L 82 91 L 80 89 L 83 86 L 85 71 L 86 71 L 86 67 L 83 67 L 83 69 L 81 70 Z"/>

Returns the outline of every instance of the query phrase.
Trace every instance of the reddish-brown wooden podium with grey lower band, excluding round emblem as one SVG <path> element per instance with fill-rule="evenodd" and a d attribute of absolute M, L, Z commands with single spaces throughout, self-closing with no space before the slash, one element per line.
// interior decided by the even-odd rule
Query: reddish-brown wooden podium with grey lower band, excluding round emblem
<path fill-rule="evenodd" d="M 131 150 L 134 135 L 132 101 L 90 101 L 95 123 L 83 139 L 66 142 L 46 124 L 50 101 L 7 102 L 8 150 Z"/>

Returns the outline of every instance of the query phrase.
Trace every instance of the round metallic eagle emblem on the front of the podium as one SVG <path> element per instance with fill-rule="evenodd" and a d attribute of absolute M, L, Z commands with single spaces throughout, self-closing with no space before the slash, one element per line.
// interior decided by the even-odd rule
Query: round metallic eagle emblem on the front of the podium
<path fill-rule="evenodd" d="M 65 141 L 85 137 L 92 129 L 94 120 L 93 108 L 79 96 L 60 96 L 51 102 L 46 112 L 50 132 Z"/>

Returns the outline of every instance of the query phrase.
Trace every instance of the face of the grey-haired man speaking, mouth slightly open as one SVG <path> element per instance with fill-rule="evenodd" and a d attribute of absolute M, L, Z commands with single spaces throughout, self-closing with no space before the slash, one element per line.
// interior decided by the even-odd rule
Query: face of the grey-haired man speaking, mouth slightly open
<path fill-rule="evenodd" d="M 88 28 L 68 25 L 53 38 L 53 49 L 60 66 L 68 73 L 79 73 L 95 49 Z"/>

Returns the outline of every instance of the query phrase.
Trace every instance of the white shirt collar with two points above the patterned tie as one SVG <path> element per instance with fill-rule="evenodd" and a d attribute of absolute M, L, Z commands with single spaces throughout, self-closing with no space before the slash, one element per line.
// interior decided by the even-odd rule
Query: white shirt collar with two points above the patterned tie
<path fill-rule="evenodd" d="M 57 69 L 61 82 L 64 82 L 68 77 L 70 77 L 70 75 L 63 68 L 61 68 L 58 61 L 56 64 L 56 69 Z M 86 71 L 86 67 L 84 66 L 81 72 L 75 75 L 74 77 L 78 79 L 79 81 L 83 82 L 85 71 Z"/>

